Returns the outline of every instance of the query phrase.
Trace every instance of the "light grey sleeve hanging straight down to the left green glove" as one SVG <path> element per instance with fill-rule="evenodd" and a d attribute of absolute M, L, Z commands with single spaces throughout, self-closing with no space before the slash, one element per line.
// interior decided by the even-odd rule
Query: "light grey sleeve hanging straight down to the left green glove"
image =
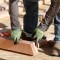
<path fill-rule="evenodd" d="M 9 14 L 12 30 L 20 28 L 18 21 L 18 0 L 9 0 Z"/>

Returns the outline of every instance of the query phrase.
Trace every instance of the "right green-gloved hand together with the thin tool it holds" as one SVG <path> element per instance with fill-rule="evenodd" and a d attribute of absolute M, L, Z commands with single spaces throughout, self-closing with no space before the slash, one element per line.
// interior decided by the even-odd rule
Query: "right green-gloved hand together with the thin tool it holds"
<path fill-rule="evenodd" d="M 33 38 L 36 38 L 35 40 L 35 45 L 37 47 L 39 47 L 39 41 L 43 38 L 44 36 L 44 32 L 42 30 L 40 30 L 39 28 L 35 29 L 35 35 Z"/>

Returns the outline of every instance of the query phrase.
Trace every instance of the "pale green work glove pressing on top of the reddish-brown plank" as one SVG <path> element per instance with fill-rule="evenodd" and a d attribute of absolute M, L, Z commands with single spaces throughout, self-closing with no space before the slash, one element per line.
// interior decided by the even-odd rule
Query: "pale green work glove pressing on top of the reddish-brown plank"
<path fill-rule="evenodd" d="M 11 39 L 14 41 L 14 44 L 17 44 L 20 38 L 21 38 L 21 30 L 20 29 L 13 30 L 11 33 Z"/>

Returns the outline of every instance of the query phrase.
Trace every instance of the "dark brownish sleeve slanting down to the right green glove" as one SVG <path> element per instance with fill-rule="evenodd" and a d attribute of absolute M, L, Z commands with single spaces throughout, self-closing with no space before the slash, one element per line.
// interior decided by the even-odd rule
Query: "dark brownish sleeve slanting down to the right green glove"
<path fill-rule="evenodd" d="M 56 16 L 60 8 L 60 0 L 51 0 L 51 5 L 46 12 L 45 18 L 42 20 L 41 24 L 38 26 L 41 30 L 46 31 L 53 18 Z"/>

